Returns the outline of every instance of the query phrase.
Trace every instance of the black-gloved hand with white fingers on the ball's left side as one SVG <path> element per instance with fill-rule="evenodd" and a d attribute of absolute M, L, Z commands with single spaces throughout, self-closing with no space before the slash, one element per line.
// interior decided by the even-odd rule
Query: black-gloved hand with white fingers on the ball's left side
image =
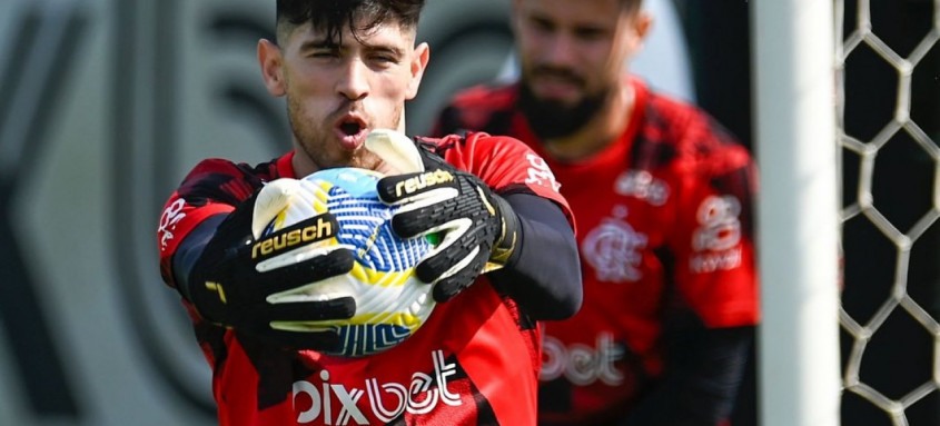
<path fill-rule="evenodd" d="M 303 192 L 294 179 L 269 182 L 238 205 L 219 225 L 190 273 L 190 301 L 206 319 L 265 343 L 327 350 L 339 345 L 335 333 L 321 328 L 301 331 L 304 328 L 296 326 L 350 318 L 356 310 L 352 297 L 304 297 L 304 288 L 353 268 L 348 249 L 321 244 L 335 238 L 336 220 L 327 211 L 261 236 L 298 196 L 310 198 L 306 202 L 323 202 L 319 210 L 326 211 L 325 201 Z"/>

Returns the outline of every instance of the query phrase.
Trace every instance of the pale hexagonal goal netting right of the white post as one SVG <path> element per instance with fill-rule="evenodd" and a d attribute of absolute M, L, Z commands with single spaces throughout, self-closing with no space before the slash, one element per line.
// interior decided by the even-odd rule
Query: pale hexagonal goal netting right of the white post
<path fill-rule="evenodd" d="M 844 425 L 940 425 L 938 4 L 834 2 Z"/>

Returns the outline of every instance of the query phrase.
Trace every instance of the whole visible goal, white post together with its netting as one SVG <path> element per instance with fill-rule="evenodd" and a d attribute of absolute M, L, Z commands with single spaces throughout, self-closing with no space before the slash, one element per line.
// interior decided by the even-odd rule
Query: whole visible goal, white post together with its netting
<path fill-rule="evenodd" d="M 752 19 L 761 424 L 940 425 L 940 0 Z"/>

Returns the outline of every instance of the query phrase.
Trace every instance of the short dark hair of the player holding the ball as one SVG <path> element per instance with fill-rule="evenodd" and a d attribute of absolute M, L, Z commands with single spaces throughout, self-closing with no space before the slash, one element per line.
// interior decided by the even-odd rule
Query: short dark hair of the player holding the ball
<path fill-rule="evenodd" d="M 326 41 L 339 44 L 344 26 L 359 38 L 375 27 L 397 22 L 403 29 L 415 29 L 425 0 L 277 0 L 278 43 L 295 28 L 310 22 L 324 31 Z M 357 21 L 359 26 L 356 26 Z"/>

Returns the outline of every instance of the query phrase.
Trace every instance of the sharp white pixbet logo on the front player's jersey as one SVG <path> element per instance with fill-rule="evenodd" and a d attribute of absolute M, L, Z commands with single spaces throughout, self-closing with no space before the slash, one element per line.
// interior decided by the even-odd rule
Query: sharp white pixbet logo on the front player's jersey
<path fill-rule="evenodd" d="M 325 425 L 369 424 L 364 409 L 367 409 L 382 424 L 390 423 L 406 410 L 412 414 L 431 413 L 438 404 L 458 406 L 458 395 L 447 389 L 451 376 L 457 373 L 455 364 L 446 364 L 444 353 L 431 354 L 434 360 L 434 375 L 415 373 L 407 385 L 400 383 L 378 383 L 375 378 L 365 380 L 365 390 L 348 388 L 340 384 L 330 384 L 329 370 L 319 373 L 320 383 L 308 380 L 294 383 L 294 408 L 297 423 L 321 423 Z M 366 397 L 365 405 L 359 404 Z"/>

